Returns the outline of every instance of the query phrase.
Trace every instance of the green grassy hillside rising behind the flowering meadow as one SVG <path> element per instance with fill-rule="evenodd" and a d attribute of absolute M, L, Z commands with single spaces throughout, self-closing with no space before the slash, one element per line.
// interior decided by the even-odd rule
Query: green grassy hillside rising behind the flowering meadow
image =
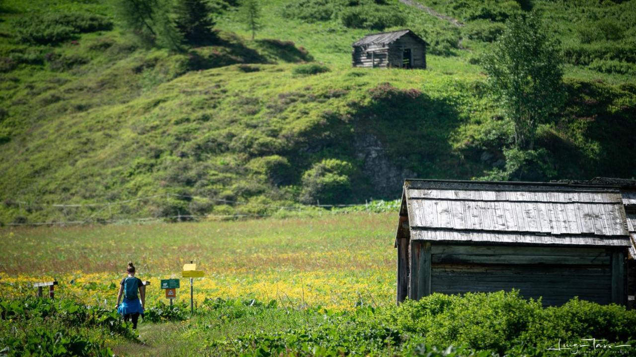
<path fill-rule="evenodd" d="M 255 41 L 229 6 L 214 43 L 175 53 L 110 3 L 5 0 L 0 222 L 263 214 L 396 198 L 404 177 L 636 175 L 636 1 L 420 1 L 463 27 L 399 1 L 261 3 Z M 530 8 L 562 40 L 568 97 L 518 152 L 479 62 Z M 427 70 L 350 68 L 352 42 L 403 27 L 431 43 Z"/>

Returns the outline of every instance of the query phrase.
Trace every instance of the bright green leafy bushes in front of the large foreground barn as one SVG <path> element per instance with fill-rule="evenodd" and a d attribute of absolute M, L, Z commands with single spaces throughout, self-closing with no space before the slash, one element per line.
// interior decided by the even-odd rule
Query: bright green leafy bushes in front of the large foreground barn
<path fill-rule="evenodd" d="M 350 312 L 307 309 L 320 323 L 286 332 L 237 337 L 247 356 L 279 353 L 406 356 L 544 356 L 546 348 L 580 339 L 636 342 L 636 311 L 576 298 L 542 307 L 519 292 L 432 294 L 398 307 L 357 307 Z M 455 346 L 455 347 L 453 347 Z M 632 347 L 633 348 L 633 347 Z"/>

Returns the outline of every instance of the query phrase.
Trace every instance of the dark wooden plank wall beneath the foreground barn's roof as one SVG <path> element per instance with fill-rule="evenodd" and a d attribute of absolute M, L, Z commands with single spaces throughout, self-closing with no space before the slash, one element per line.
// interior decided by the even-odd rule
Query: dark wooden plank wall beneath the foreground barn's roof
<path fill-rule="evenodd" d="M 417 278 L 410 277 L 409 297 L 419 299 L 428 295 L 427 288 L 422 287 L 426 284 L 425 278 L 420 277 L 426 271 L 422 262 L 426 262 L 424 246 L 429 243 L 412 242 L 411 272 L 417 271 Z M 524 297 L 543 297 L 546 306 L 563 304 L 574 296 L 600 304 L 619 302 L 625 296 L 625 286 L 616 283 L 619 278 L 625 278 L 625 274 L 621 274 L 622 265 L 618 263 L 622 253 L 607 248 L 433 243 L 429 251 L 431 293 L 495 292 L 518 288 Z"/>

